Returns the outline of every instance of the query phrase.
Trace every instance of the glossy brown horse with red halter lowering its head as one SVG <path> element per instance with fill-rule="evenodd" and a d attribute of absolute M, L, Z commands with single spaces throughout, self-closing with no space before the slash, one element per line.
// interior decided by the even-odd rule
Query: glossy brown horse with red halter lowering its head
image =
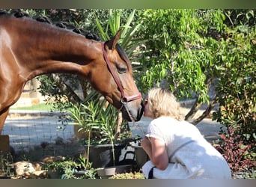
<path fill-rule="evenodd" d="M 132 67 L 112 40 L 100 43 L 80 34 L 30 18 L 0 16 L 0 135 L 9 108 L 25 82 L 46 73 L 73 73 L 122 111 L 126 120 L 140 120 L 141 93 L 132 78 Z"/>

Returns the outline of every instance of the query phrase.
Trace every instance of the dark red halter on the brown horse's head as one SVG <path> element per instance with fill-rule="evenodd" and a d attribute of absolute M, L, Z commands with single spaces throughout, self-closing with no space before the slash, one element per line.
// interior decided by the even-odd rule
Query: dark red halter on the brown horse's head
<path fill-rule="evenodd" d="M 105 42 L 102 43 L 102 50 L 103 50 L 103 57 L 106 61 L 107 66 L 109 67 L 109 71 L 112 74 L 112 77 L 115 80 L 115 83 L 118 85 L 119 91 L 121 92 L 121 103 L 122 103 L 121 108 L 125 107 L 127 110 L 127 114 L 129 115 L 129 118 L 132 121 L 135 121 L 134 118 L 132 117 L 132 114 L 129 113 L 129 109 L 127 108 L 127 102 L 133 101 L 135 99 L 142 99 L 141 93 L 138 92 L 132 96 L 126 96 L 126 94 L 124 93 L 124 89 L 121 85 L 120 79 L 118 79 L 118 76 L 116 75 L 115 71 L 113 70 L 113 68 L 109 62 L 109 58 L 106 55 Z M 121 110 L 121 108 L 119 110 Z"/>

